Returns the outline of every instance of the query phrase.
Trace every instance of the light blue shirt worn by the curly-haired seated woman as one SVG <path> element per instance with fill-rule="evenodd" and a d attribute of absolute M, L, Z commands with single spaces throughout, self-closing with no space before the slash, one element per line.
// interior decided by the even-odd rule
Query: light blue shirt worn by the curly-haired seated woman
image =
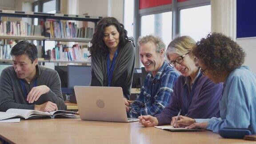
<path fill-rule="evenodd" d="M 256 75 L 246 66 L 233 70 L 226 81 L 220 104 L 220 118 L 196 119 L 208 122 L 207 128 L 251 128 L 256 134 Z"/>

